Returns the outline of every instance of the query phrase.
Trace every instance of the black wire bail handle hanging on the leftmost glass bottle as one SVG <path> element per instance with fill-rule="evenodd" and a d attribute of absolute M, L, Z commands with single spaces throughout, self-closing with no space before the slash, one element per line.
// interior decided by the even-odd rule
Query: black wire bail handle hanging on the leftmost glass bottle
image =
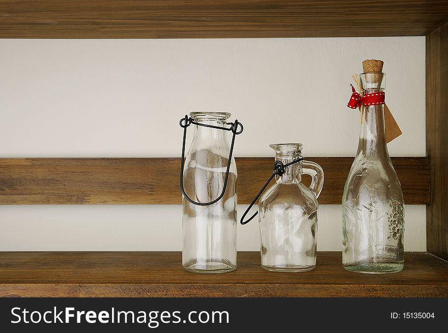
<path fill-rule="evenodd" d="M 215 200 L 210 201 L 210 202 L 194 201 L 193 199 L 191 199 L 190 197 L 187 196 L 187 194 L 185 193 L 185 190 L 184 190 L 185 141 L 187 138 L 187 127 L 190 126 L 191 124 L 197 125 L 197 126 L 215 128 L 218 130 L 232 131 L 232 133 L 233 133 L 232 143 L 230 145 L 229 159 L 227 160 L 228 162 L 227 162 L 227 170 L 226 170 L 226 178 L 224 180 L 224 186 L 222 188 L 221 194 Z M 221 198 L 224 196 L 224 193 L 226 192 L 227 180 L 229 179 L 230 162 L 232 160 L 233 146 L 235 144 L 235 136 L 237 136 L 238 134 L 241 134 L 243 132 L 243 129 L 244 129 L 243 124 L 238 122 L 238 120 L 235 120 L 235 122 L 233 122 L 233 123 L 226 123 L 226 125 L 231 125 L 230 127 L 219 127 L 219 126 L 213 126 L 213 125 L 207 125 L 207 124 L 200 124 L 198 122 L 195 122 L 193 120 L 193 118 L 188 117 L 188 115 L 186 114 L 184 118 L 180 119 L 179 125 L 180 125 L 180 127 L 182 127 L 184 129 L 184 138 L 183 138 L 183 142 L 182 142 L 182 160 L 181 160 L 181 168 L 180 168 L 180 189 L 182 191 L 182 194 L 184 195 L 185 199 L 187 199 L 189 202 L 191 202 L 195 205 L 198 205 L 198 206 L 212 205 L 212 204 L 218 202 L 219 200 L 221 200 Z M 238 125 L 241 127 L 241 129 L 239 131 L 238 131 Z"/>

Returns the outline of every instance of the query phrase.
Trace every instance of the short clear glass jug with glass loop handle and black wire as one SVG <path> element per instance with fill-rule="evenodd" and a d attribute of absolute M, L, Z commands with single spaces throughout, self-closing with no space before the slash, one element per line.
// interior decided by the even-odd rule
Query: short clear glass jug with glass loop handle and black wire
<path fill-rule="evenodd" d="M 274 175 L 276 181 L 258 204 L 261 265 L 280 272 L 311 270 L 316 266 L 317 198 L 323 186 L 323 170 L 318 164 L 303 160 L 300 143 L 270 147 L 275 150 L 275 171 L 265 187 Z M 301 183 L 302 174 L 311 175 L 309 188 Z M 242 224 L 248 222 L 242 220 Z"/>

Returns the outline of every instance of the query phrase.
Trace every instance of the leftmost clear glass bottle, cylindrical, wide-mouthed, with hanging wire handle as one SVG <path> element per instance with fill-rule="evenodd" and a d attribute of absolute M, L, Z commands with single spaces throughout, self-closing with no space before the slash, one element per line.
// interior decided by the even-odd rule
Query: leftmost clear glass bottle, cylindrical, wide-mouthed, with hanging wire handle
<path fill-rule="evenodd" d="M 224 273 L 236 268 L 237 170 L 232 149 L 242 125 L 226 123 L 230 113 L 192 112 L 193 141 L 181 174 L 183 192 L 182 266 L 196 273 Z M 238 125 L 241 130 L 237 132 Z M 226 133 L 233 132 L 229 146 Z"/>

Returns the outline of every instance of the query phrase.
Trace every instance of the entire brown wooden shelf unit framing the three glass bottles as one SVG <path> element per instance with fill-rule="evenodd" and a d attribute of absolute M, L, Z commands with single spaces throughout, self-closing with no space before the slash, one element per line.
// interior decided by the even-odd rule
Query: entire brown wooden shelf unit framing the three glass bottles
<path fill-rule="evenodd" d="M 428 251 L 448 259 L 448 1 L 71 0 L 0 1 L 0 38 L 279 38 L 427 36 L 429 158 L 393 163 L 410 204 L 429 204 Z M 366 28 L 366 27 L 369 28 Z M 320 203 L 340 203 L 351 158 L 313 159 L 325 171 Z M 239 202 L 248 203 L 272 159 L 239 159 Z M 180 159 L 0 159 L 0 204 L 180 203 Z M 430 177 L 431 171 L 431 177 Z M 162 173 L 161 178 L 160 175 Z M 163 181 L 169 179 L 169 181 Z M 407 253 L 392 275 L 345 271 L 341 253 L 315 270 L 264 271 L 240 253 L 223 275 L 187 273 L 180 253 L 3 252 L 1 296 L 448 296 L 448 263 Z"/>

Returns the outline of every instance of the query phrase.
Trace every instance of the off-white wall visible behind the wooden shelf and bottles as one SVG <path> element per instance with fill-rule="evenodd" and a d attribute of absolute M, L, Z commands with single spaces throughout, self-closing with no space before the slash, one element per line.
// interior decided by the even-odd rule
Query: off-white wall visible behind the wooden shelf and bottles
<path fill-rule="evenodd" d="M 365 58 L 384 60 L 404 133 L 390 155 L 425 156 L 425 37 L 389 37 L 0 39 L 0 157 L 176 157 L 179 119 L 198 110 L 244 124 L 237 157 L 271 157 L 268 145 L 287 141 L 304 156 L 354 156 L 359 117 L 346 104 Z M 407 205 L 406 250 L 426 250 L 425 226 L 425 206 Z M 239 227 L 239 250 L 258 250 L 257 228 Z M 180 250 L 181 210 L 0 206 L 0 230 L 1 251 Z M 319 250 L 341 238 L 341 206 L 321 205 Z"/>

